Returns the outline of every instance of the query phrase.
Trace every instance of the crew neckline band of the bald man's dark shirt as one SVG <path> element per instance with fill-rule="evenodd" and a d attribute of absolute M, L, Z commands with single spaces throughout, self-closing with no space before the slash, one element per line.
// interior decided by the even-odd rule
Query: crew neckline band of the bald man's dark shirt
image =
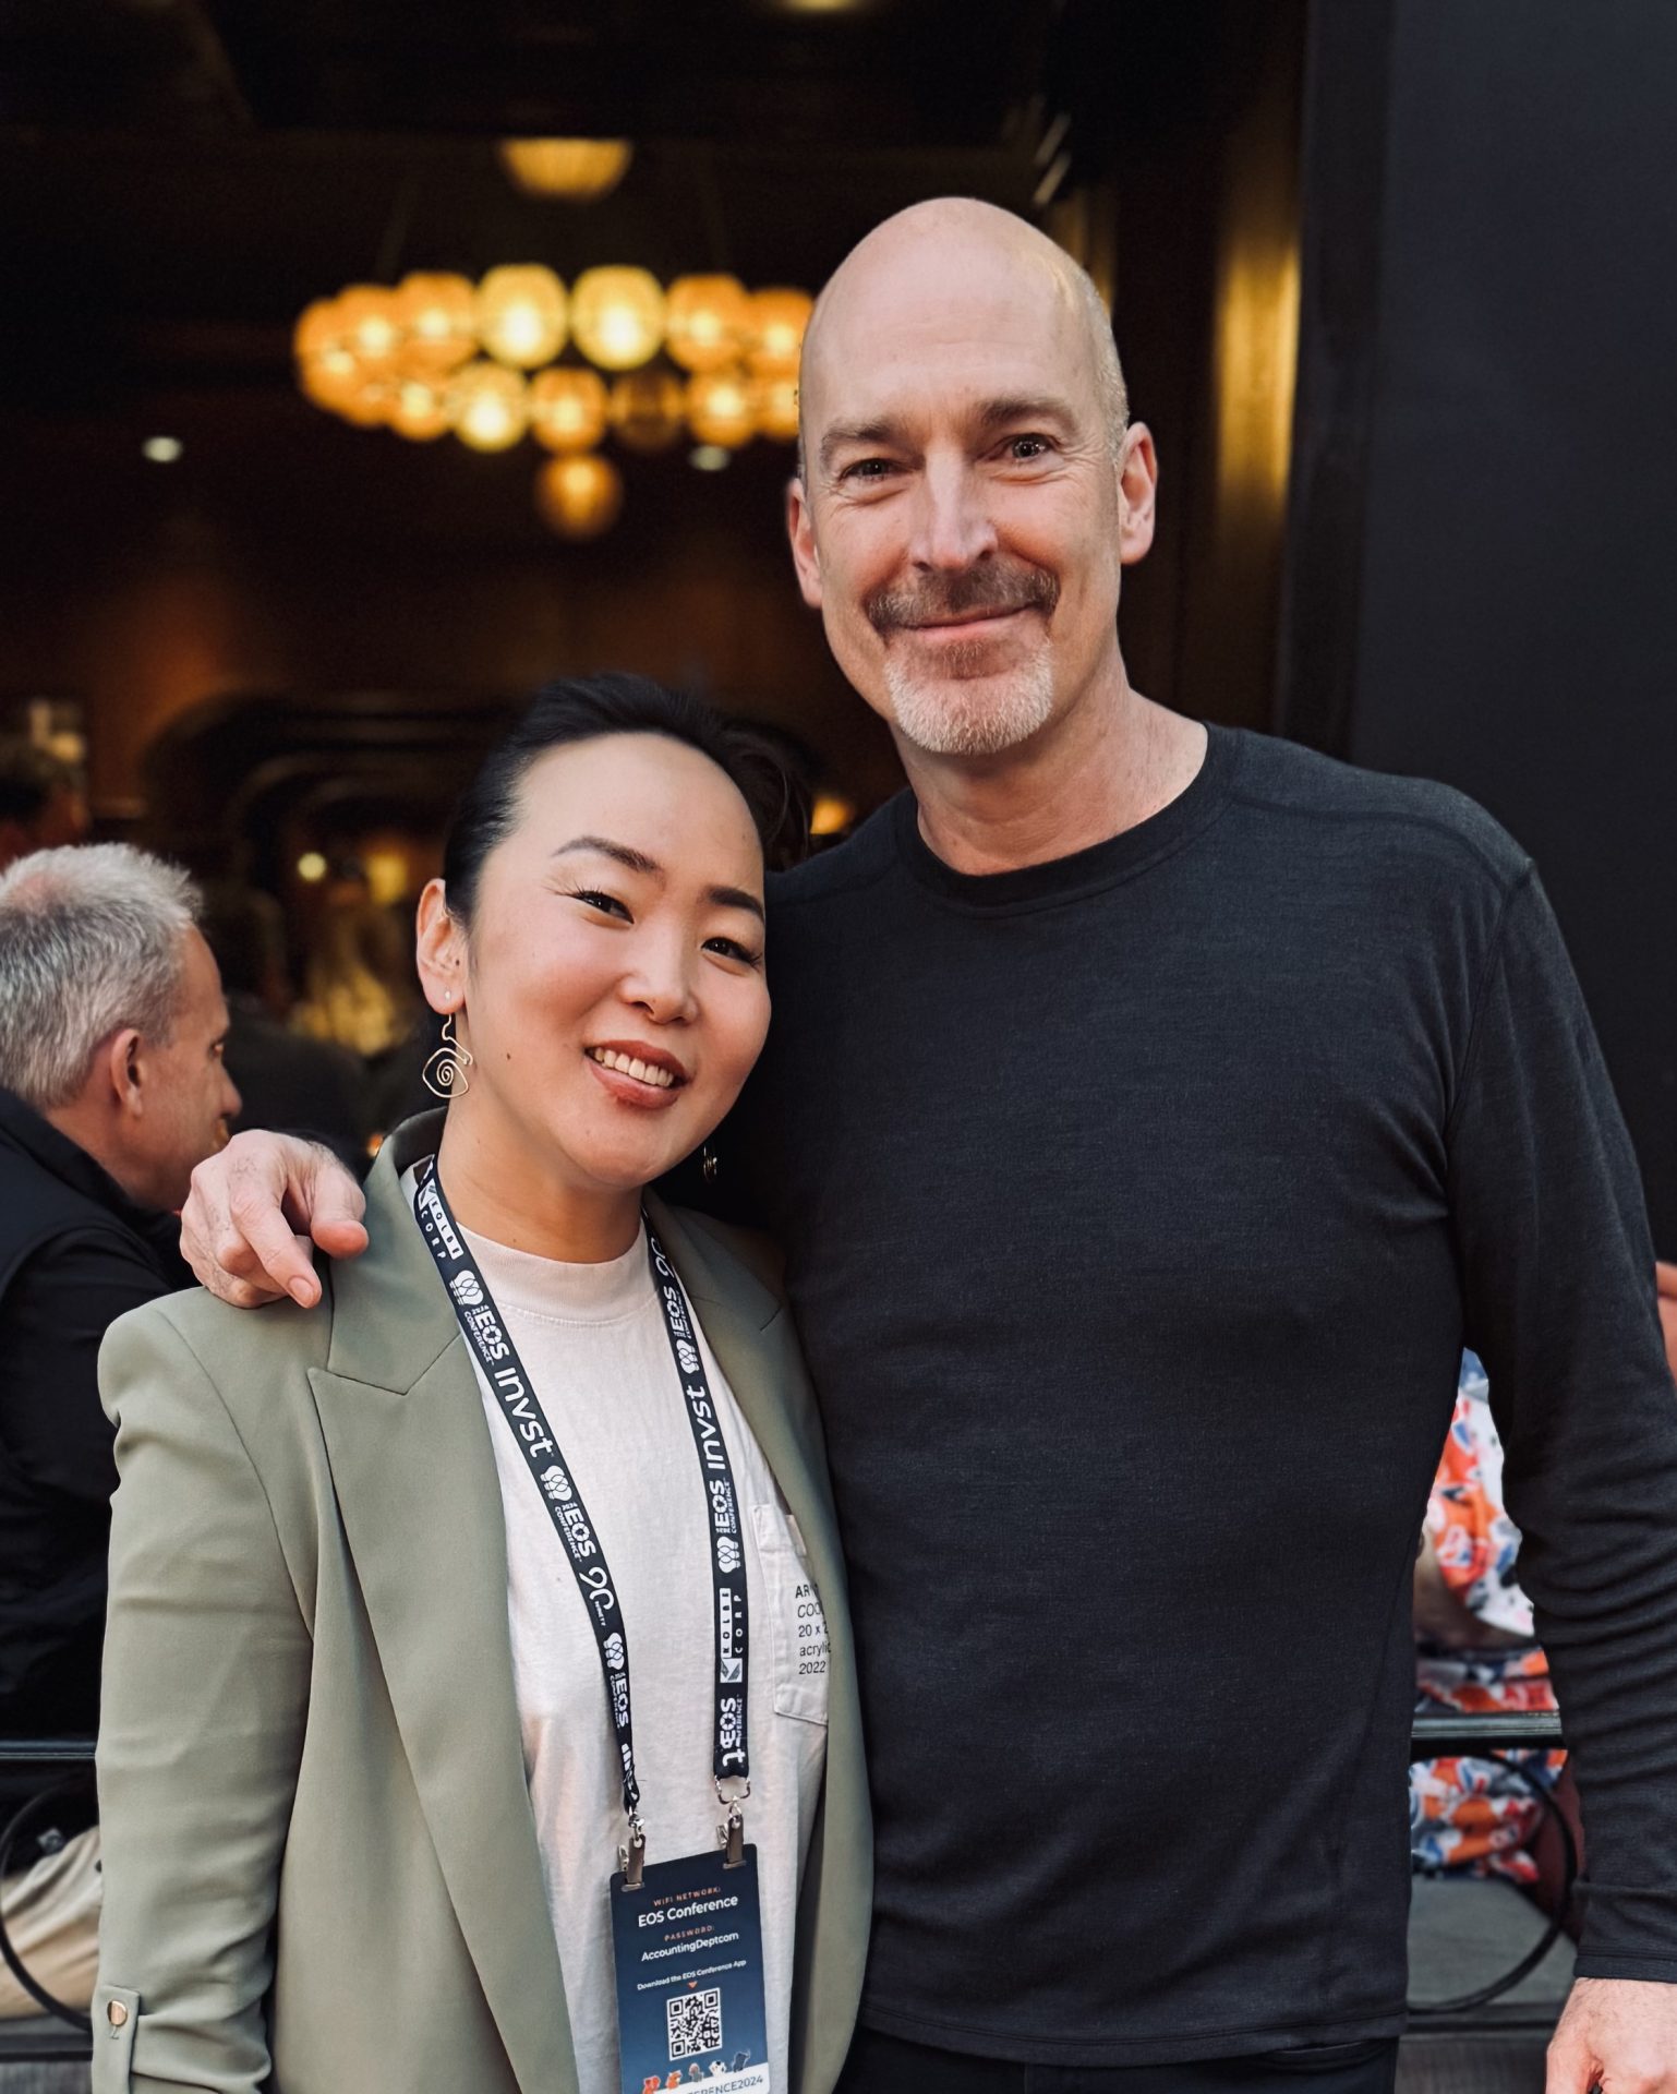
<path fill-rule="evenodd" d="M 1223 812 L 1239 764 L 1239 735 L 1227 727 L 1206 729 L 1206 760 L 1189 783 L 1156 815 L 1108 836 L 1099 844 L 1074 850 L 1041 865 L 1020 865 L 1005 873 L 959 873 L 946 865 L 919 831 L 919 806 L 913 792 L 898 796 L 892 808 L 896 850 L 919 886 L 946 903 L 974 911 L 1041 909 L 1074 900 L 1101 888 L 1135 879 L 1162 859 L 1191 844 L 1202 829 Z"/>

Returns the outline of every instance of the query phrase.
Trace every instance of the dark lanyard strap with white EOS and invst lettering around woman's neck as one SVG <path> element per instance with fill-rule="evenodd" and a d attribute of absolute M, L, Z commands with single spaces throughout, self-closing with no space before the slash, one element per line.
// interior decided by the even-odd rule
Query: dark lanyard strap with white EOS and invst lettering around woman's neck
<path fill-rule="evenodd" d="M 634 1778 L 634 1721 L 628 1688 L 628 1625 L 618 1604 L 618 1587 L 611 1566 L 605 1560 L 595 1522 L 582 1503 L 582 1493 L 546 1422 L 540 1397 L 523 1361 L 517 1355 L 507 1321 L 496 1309 L 494 1296 L 477 1271 L 467 1250 L 459 1225 L 448 1210 L 448 1200 L 438 1177 L 435 1156 L 419 1164 L 415 1200 L 425 1244 L 438 1261 L 438 1271 L 448 1288 L 461 1332 L 488 1378 L 496 1399 L 496 1409 L 507 1420 L 507 1430 L 523 1453 L 530 1476 L 542 1493 L 553 1531 L 565 1545 L 565 1556 L 576 1577 L 576 1589 L 588 1608 L 588 1623 L 599 1646 L 601 1675 L 605 1679 L 605 1707 L 611 1715 L 611 1736 L 622 1761 L 624 1815 L 628 1818 L 628 1847 L 624 1868 L 632 1885 L 639 1885 L 641 1862 L 645 1857 L 647 1832 L 641 1822 L 641 1784 Z M 747 1690 L 747 1610 L 745 1610 L 745 1545 L 739 1527 L 739 1497 L 733 1483 L 733 1464 L 722 1439 L 722 1424 L 716 1403 L 706 1382 L 703 1359 L 693 1328 L 693 1313 L 687 1307 L 676 1269 L 664 1254 L 664 1246 L 647 1223 L 647 1256 L 651 1263 L 653 1292 L 664 1311 L 664 1330 L 670 1338 L 670 1355 L 676 1365 L 687 1422 L 693 1428 L 693 1447 L 699 1457 L 699 1476 L 706 1487 L 706 1512 L 710 1527 L 710 1577 L 714 1591 L 714 1644 L 716 1644 L 716 1751 L 712 1774 L 716 1778 L 716 1799 L 729 1811 L 722 1828 L 726 1836 L 729 1862 L 741 1851 L 739 1805 L 750 1797 L 752 1761 L 745 1742 L 745 1690 Z M 741 1780 L 743 1792 L 722 1795 L 724 1780 Z"/>

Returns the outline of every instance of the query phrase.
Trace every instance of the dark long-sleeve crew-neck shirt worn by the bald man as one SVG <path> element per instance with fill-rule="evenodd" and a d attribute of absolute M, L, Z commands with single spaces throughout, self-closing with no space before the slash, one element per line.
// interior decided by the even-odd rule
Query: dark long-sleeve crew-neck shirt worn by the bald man
<path fill-rule="evenodd" d="M 787 1250 L 877 1813 L 863 2019 L 1124 2065 L 1390 2033 L 1411 1570 L 1463 1340 L 1589 1836 L 1677 1981 L 1677 1395 L 1526 856 L 1212 731 L 1151 821 L 963 877 L 904 796 L 777 882 L 722 1171 Z"/>

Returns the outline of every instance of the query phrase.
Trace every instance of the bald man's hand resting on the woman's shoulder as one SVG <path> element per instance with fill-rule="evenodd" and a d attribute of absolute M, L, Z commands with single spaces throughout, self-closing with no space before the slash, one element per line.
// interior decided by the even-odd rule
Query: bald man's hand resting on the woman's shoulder
<path fill-rule="evenodd" d="M 331 1150 L 260 1129 L 234 1135 L 193 1173 L 180 1252 L 203 1286 L 234 1309 L 285 1294 L 320 1300 L 310 1238 L 333 1258 L 366 1250 L 366 1200 Z"/>

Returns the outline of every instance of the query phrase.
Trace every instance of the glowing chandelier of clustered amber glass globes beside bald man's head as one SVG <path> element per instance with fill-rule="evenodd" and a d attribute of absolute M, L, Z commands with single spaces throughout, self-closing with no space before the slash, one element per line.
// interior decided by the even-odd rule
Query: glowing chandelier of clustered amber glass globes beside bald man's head
<path fill-rule="evenodd" d="M 316 299 L 293 337 L 297 385 L 412 444 L 511 450 L 532 438 L 555 452 L 538 513 L 565 538 L 592 538 L 624 498 L 607 440 L 666 450 L 691 436 L 703 463 L 758 436 L 796 440 L 810 306 L 806 291 L 747 291 L 733 276 L 666 289 L 643 268 L 590 268 L 569 289 L 534 262 L 477 283 L 421 272 Z"/>

